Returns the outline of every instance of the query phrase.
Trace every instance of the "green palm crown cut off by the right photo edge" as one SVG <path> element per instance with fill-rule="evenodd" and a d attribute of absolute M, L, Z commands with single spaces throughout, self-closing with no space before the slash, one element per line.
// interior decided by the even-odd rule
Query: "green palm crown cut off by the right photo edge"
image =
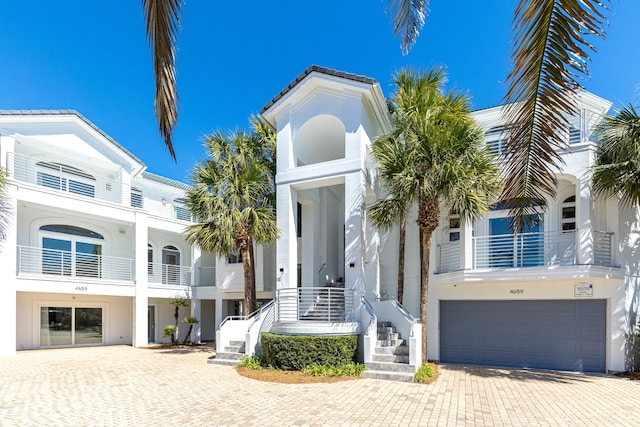
<path fill-rule="evenodd" d="M 597 129 L 600 146 L 592 168 L 596 195 L 640 206 L 640 116 L 632 106 L 608 116 Z"/>

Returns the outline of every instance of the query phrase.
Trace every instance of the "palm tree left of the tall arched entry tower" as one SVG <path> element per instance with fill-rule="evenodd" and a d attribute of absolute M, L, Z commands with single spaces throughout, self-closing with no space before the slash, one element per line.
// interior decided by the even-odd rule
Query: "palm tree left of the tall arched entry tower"
<path fill-rule="evenodd" d="M 187 208 L 200 222 L 187 241 L 221 256 L 239 253 L 244 271 L 244 315 L 256 306 L 254 243 L 275 242 L 273 194 L 275 137 L 254 119 L 251 134 L 214 132 L 205 139 L 207 159 L 191 173 Z"/>

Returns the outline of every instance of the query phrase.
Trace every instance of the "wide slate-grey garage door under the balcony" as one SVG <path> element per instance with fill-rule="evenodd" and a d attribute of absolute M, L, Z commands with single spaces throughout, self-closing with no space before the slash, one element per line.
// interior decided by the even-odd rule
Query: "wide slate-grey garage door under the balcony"
<path fill-rule="evenodd" d="M 606 302 L 441 301 L 440 361 L 604 372 Z"/>

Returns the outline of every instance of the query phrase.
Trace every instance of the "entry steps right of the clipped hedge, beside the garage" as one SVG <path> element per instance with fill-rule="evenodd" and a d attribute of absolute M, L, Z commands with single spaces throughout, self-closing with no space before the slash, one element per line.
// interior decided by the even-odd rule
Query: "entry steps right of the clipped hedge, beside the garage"
<path fill-rule="evenodd" d="M 378 336 L 372 361 L 366 362 L 362 376 L 380 380 L 413 382 L 415 368 L 409 364 L 406 340 L 391 322 L 378 322 Z"/>

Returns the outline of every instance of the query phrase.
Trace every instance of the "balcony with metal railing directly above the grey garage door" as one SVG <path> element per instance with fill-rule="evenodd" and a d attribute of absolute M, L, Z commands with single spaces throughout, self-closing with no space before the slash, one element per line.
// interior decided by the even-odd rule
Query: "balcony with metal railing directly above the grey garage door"
<path fill-rule="evenodd" d="M 474 270 L 554 267 L 578 265 L 578 233 L 576 230 L 478 236 L 472 239 Z M 593 233 L 593 265 L 612 265 L 612 233 Z M 464 269 L 460 253 L 462 242 L 438 246 L 438 273 Z"/>

